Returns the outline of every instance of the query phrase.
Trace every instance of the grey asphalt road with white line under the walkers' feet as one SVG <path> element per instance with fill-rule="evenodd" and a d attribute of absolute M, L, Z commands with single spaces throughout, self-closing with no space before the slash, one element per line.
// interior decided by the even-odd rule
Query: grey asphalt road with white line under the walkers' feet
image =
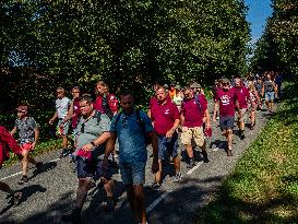
<path fill-rule="evenodd" d="M 171 165 L 166 166 L 166 176 L 163 190 L 151 191 L 148 186 L 153 181 L 150 172 L 151 157 L 146 167 L 146 207 L 148 223 L 151 224 L 183 224 L 192 223 L 195 211 L 203 207 L 210 196 L 220 185 L 222 180 L 233 170 L 235 164 L 261 132 L 270 115 L 258 113 L 258 122 L 253 131 L 246 129 L 247 138 L 241 141 L 237 135 L 234 140 L 234 156 L 227 157 L 224 151 L 225 142 L 220 135 L 219 128 L 213 127 L 213 138 L 208 139 L 210 163 L 204 164 L 200 160 L 198 151 L 198 165 L 189 170 L 186 162 L 181 163 L 183 179 L 176 184 L 172 181 L 174 169 Z M 235 128 L 237 130 L 237 128 Z M 183 148 L 180 146 L 180 151 Z M 37 176 L 29 172 L 31 180 L 23 186 L 17 185 L 21 178 L 20 165 L 2 168 L 0 179 L 11 185 L 14 189 L 23 192 L 19 207 L 9 208 L 5 193 L 0 192 L 0 224 L 58 224 L 61 214 L 73 207 L 75 190 L 78 186 L 76 176 L 73 173 L 73 164 L 69 158 L 57 160 L 59 151 L 51 152 L 37 157 L 44 162 L 44 172 Z M 148 156 L 151 153 L 148 153 Z M 103 207 L 104 190 L 98 185 L 90 190 L 87 202 L 83 210 L 82 223 L 88 224 L 133 224 L 129 210 L 123 186 L 119 173 L 115 174 L 116 194 L 118 197 L 117 211 L 107 213 Z"/>

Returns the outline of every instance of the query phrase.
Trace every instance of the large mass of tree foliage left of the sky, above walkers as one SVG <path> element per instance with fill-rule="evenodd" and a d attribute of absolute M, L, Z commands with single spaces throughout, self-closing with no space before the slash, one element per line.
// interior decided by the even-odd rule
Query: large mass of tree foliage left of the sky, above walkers
<path fill-rule="evenodd" d="M 145 95 L 155 82 L 240 74 L 249 27 L 242 0 L 3 0 L 1 103 L 49 108 L 56 86 L 105 80 Z M 13 98 L 13 99 L 12 99 Z M 146 98 L 146 97 L 143 97 Z"/>

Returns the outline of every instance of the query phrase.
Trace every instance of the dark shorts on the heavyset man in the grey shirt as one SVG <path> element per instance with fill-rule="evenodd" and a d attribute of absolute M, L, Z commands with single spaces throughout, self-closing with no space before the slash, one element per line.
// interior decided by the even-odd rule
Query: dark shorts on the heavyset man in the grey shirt
<path fill-rule="evenodd" d="M 100 177 L 105 177 L 106 179 L 110 179 L 112 176 L 110 167 L 108 167 L 108 170 L 104 172 L 103 161 L 100 160 L 86 160 L 76 156 L 75 163 L 78 178 L 93 177 L 94 179 L 99 179 Z"/>

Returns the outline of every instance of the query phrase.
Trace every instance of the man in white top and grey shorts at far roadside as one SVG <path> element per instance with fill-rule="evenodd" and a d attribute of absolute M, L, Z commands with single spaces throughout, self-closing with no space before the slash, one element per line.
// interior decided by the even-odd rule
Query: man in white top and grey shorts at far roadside
<path fill-rule="evenodd" d="M 58 119 L 57 134 L 62 138 L 62 152 L 59 157 L 64 157 L 70 153 L 68 150 L 68 131 L 70 121 L 63 122 L 63 119 L 68 115 L 69 106 L 70 99 L 65 96 L 65 90 L 59 86 L 57 89 L 56 111 L 49 120 L 49 125 L 53 125 Z"/>

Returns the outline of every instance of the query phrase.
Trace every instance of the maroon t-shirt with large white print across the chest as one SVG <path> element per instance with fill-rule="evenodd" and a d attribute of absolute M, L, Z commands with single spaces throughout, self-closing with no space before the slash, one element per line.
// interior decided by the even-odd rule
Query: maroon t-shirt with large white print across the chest
<path fill-rule="evenodd" d="M 233 89 L 228 91 L 218 90 L 215 95 L 215 101 L 219 102 L 220 117 L 235 116 L 236 94 Z"/>

